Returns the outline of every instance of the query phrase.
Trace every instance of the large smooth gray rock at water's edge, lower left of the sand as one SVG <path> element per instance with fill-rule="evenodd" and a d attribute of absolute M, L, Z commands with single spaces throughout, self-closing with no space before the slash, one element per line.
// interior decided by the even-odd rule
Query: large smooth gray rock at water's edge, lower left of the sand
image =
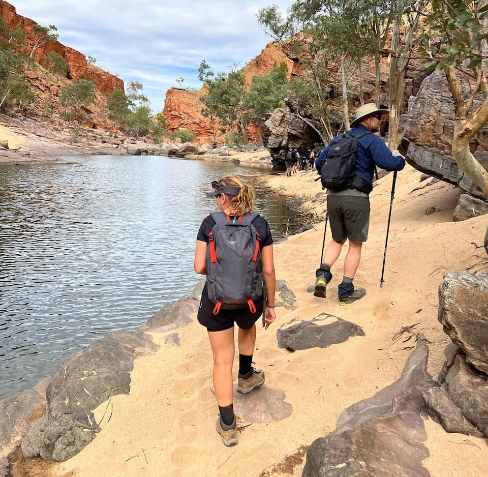
<path fill-rule="evenodd" d="M 134 359 L 158 349 L 142 332 L 118 331 L 69 357 L 46 390 L 47 410 L 22 441 L 24 458 L 62 462 L 98 432 L 93 410 L 117 394 L 129 394 Z"/>

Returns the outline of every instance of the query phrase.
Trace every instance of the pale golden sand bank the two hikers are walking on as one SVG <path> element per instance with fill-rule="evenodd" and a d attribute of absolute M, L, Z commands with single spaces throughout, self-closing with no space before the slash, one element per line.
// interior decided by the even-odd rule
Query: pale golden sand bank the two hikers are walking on
<path fill-rule="evenodd" d="M 319 299 L 306 291 L 315 281 L 324 222 L 275 246 L 277 278 L 285 279 L 295 292 L 297 309 L 277 308 L 275 324 L 268 331 L 258 330 L 255 361 L 266 373 L 265 386 L 286 394 L 286 402 L 293 406 L 289 418 L 253 424 L 240 433 L 237 446 L 225 448 L 215 431 L 217 405 L 209 388 L 210 346 L 205 330 L 195 320 L 176 330 L 179 347 L 164 344 L 165 337 L 174 331 L 152 335 L 161 349 L 136 360 L 130 395 L 115 396 L 108 409 L 104 403 L 96 410 L 103 430 L 80 454 L 50 466 L 52 474 L 297 476 L 304 465 L 304 459 L 300 463 L 298 458 L 302 446 L 332 431 L 346 407 L 374 395 L 400 376 L 411 352 L 401 348 L 414 344 L 413 339 L 392 341 L 402 326 L 421 322 L 416 330 L 432 342 L 429 371 L 436 378 L 449 342 L 437 320 L 438 287 L 445 272 L 465 270 L 483 259 L 486 262 L 484 249 L 475 249 L 472 243 L 482 245 L 488 218 L 452 222 L 459 190 L 439 182 L 410 193 L 426 184 L 419 184 L 420 175 L 410 166 L 399 173 L 382 288 L 391 174 L 372 192 L 370 238 L 355 279 L 356 286 L 364 286 L 368 294 L 349 307 L 339 306 L 336 291 L 345 252 L 332 269 L 328 297 Z M 311 172 L 291 178 L 273 176 L 268 184 L 281 192 L 288 190 L 290 195 L 299 189 L 300 194 L 313 196 L 321 190 L 313 182 L 315 177 Z M 438 212 L 425 215 L 428 206 Z M 193 260 L 193 251 L 188 259 Z M 482 270 L 488 270 L 486 264 L 471 272 Z M 326 349 L 290 353 L 278 348 L 278 327 L 324 311 L 360 325 L 365 337 L 353 337 Z M 433 421 L 426 421 L 425 429 L 431 456 L 423 464 L 433 477 L 486 475 L 485 440 L 447 434 Z M 289 458 L 293 455 L 296 457 Z"/>

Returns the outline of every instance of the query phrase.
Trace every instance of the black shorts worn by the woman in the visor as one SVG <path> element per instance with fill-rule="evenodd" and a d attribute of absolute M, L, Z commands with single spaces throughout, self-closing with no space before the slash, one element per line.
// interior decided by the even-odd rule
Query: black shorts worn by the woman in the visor
<path fill-rule="evenodd" d="M 236 310 L 220 310 L 214 315 L 215 305 L 208 298 L 207 287 L 202 291 L 200 307 L 198 308 L 197 319 L 200 324 L 206 327 L 207 331 L 224 331 L 234 327 L 234 322 L 242 330 L 250 330 L 253 324 L 263 314 L 263 295 L 254 303 L 256 313 L 251 313 L 248 306 Z"/>

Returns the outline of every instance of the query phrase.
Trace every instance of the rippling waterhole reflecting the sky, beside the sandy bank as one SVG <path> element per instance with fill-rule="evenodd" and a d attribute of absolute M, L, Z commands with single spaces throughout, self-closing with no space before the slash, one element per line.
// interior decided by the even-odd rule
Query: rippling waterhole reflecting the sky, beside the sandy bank
<path fill-rule="evenodd" d="M 135 329 L 201 278 L 193 253 L 214 178 L 254 171 L 163 157 L 0 164 L 0 398 L 93 340 Z M 296 225 L 256 191 L 275 240 Z"/>

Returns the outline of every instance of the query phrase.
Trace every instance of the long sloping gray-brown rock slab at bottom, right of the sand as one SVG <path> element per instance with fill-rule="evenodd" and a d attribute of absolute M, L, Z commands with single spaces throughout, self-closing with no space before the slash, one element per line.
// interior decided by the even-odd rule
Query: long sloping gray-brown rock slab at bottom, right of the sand
<path fill-rule="evenodd" d="M 346 409 L 337 428 L 307 451 L 303 477 L 408 475 L 429 477 L 423 393 L 436 385 L 426 371 L 429 349 L 420 337 L 402 376 L 375 396 Z"/>

